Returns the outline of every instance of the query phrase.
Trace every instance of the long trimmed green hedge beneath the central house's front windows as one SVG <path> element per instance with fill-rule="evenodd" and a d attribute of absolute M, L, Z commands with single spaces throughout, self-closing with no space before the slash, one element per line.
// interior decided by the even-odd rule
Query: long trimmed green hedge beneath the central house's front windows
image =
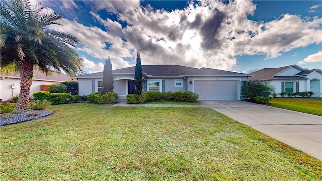
<path fill-rule="evenodd" d="M 199 95 L 192 91 L 177 91 L 172 93 L 168 91 L 166 93 L 163 92 L 152 92 L 152 91 L 145 91 L 140 96 L 136 94 L 128 94 L 126 96 L 126 102 L 129 104 L 143 104 L 149 101 L 160 101 L 160 100 L 167 100 L 167 101 L 185 101 L 185 102 L 196 102 L 198 101 Z"/>

